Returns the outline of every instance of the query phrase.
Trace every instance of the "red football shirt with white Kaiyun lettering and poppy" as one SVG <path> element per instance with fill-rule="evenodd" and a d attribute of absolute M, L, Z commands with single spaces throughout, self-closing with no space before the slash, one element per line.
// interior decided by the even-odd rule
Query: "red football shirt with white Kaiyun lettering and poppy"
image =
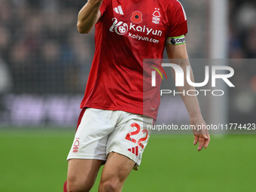
<path fill-rule="evenodd" d="M 143 105 L 143 59 L 161 59 L 166 38 L 187 33 L 177 0 L 103 0 L 96 50 L 81 108 L 120 110 L 157 118 L 160 87 Z M 151 84 L 151 80 L 148 80 Z M 148 105 L 148 104 L 147 104 Z M 144 110 L 143 110 L 143 107 Z"/>

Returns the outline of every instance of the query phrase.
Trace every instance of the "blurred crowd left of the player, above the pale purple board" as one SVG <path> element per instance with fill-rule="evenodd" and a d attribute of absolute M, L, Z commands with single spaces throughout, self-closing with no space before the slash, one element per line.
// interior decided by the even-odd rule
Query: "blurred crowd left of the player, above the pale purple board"
<path fill-rule="evenodd" d="M 0 0 L 0 58 L 13 93 L 81 93 L 93 56 L 93 33 L 76 29 L 87 1 Z"/>

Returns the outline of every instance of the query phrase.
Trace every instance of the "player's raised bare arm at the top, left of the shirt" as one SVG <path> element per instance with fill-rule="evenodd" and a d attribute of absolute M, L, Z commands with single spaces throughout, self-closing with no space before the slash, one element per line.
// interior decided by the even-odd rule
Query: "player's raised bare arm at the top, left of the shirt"
<path fill-rule="evenodd" d="M 99 11 L 102 0 L 88 0 L 87 4 L 81 8 L 78 14 L 78 32 L 88 33 L 99 20 L 101 13 Z"/>

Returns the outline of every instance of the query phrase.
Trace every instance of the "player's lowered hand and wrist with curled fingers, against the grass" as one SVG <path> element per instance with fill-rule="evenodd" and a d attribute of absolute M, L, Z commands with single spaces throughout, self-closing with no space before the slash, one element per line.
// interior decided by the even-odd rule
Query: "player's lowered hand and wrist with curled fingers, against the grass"
<path fill-rule="evenodd" d="M 206 122 L 203 120 L 202 116 L 190 117 L 190 125 L 194 125 L 194 145 L 198 144 L 197 151 L 201 151 L 202 148 L 207 148 L 210 142 L 209 132 L 203 125 L 206 126 Z"/>

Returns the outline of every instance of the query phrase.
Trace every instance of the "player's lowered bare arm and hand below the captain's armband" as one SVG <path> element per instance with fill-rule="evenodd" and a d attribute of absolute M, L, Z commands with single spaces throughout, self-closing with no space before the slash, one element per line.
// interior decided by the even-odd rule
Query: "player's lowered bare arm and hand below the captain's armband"
<path fill-rule="evenodd" d="M 177 64 L 183 69 L 183 72 L 186 72 L 187 66 L 190 66 L 190 62 L 187 56 L 186 44 L 166 44 L 166 51 L 169 59 L 175 59 L 175 61 L 178 62 Z M 187 75 L 184 75 L 184 77 L 186 76 Z M 190 79 L 191 81 L 194 81 L 194 75 L 191 67 Z M 184 87 L 177 87 L 177 89 L 179 92 L 183 92 L 183 90 L 187 92 L 187 90 L 194 90 L 194 87 L 190 86 L 190 84 L 187 84 L 187 81 L 184 79 Z M 194 126 L 202 124 L 206 125 L 200 111 L 197 96 L 188 96 L 181 94 L 181 98 L 183 99 L 184 105 L 186 106 L 188 114 L 190 116 L 190 124 Z M 207 148 L 210 142 L 208 130 L 194 130 L 194 145 L 197 145 L 197 142 L 199 142 L 197 148 L 198 151 L 201 151 L 203 147 Z"/>

